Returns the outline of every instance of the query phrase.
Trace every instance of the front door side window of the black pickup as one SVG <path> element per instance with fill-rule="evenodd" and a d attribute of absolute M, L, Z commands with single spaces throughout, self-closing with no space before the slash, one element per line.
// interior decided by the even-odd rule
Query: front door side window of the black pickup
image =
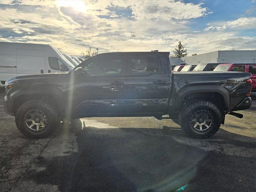
<path fill-rule="evenodd" d="M 124 57 L 104 57 L 92 60 L 84 67 L 89 76 L 121 75 Z"/>

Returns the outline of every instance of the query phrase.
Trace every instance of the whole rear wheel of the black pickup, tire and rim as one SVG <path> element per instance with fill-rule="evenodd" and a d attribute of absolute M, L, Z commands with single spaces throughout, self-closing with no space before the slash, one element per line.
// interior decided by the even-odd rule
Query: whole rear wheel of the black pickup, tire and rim
<path fill-rule="evenodd" d="M 197 101 L 180 111 L 181 128 L 193 138 L 209 138 L 220 128 L 221 112 L 209 101 Z"/>

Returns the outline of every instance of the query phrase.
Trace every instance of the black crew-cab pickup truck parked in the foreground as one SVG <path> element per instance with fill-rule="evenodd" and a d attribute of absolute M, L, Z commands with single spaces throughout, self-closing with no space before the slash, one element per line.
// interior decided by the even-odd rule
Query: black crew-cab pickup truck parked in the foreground
<path fill-rule="evenodd" d="M 169 54 L 103 53 L 69 72 L 11 78 L 5 111 L 30 138 L 50 135 L 63 119 L 129 116 L 174 119 L 190 136 L 208 138 L 226 114 L 242 118 L 233 111 L 250 108 L 250 73 L 172 73 Z"/>

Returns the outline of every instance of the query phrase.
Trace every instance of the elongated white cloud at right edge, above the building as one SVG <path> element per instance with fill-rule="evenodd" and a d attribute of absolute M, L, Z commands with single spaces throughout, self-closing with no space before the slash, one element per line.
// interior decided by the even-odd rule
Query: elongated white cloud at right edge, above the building
<path fill-rule="evenodd" d="M 209 26 L 205 28 L 205 31 L 217 30 L 223 31 L 225 29 L 253 29 L 256 28 L 256 18 L 255 17 L 242 17 L 237 20 L 227 21 L 227 22 L 215 22 L 217 26 Z"/>

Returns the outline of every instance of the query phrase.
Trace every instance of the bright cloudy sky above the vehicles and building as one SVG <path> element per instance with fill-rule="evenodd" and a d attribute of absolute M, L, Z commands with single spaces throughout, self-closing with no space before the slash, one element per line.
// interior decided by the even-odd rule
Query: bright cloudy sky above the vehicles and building
<path fill-rule="evenodd" d="M 0 41 L 78 55 L 256 49 L 256 0 L 0 0 Z"/>

